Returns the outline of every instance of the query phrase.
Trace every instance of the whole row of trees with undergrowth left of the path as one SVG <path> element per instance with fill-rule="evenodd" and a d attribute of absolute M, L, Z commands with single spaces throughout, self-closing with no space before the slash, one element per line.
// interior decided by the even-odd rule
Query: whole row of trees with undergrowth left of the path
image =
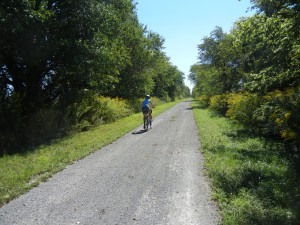
<path fill-rule="evenodd" d="M 189 94 L 131 0 L 2 0 L 0 17 L 1 153 L 103 120 L 100 96 Z"/>

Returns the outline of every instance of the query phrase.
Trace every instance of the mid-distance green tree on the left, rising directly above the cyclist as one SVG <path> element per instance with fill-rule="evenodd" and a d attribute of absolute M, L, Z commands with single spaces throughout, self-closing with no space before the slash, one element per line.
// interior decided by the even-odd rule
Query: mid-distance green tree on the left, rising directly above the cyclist
<path fill-rule="evenodd" d="M 127 26 L 128 35 L 124 38 L 130 63 L 120 72 L 114 91 L 116 96 L 127 99 L 142 97 L 152 92 L 153 76 L 163 48 L 163 38 L 144 29 L 137 18 L 132 22 Z"/>

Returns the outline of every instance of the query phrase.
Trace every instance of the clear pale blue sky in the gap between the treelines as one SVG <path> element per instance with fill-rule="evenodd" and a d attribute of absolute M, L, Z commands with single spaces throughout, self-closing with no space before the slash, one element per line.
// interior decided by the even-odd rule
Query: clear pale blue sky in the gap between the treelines
<path fill-rule="evenodd" d="M 164 52 L 187 77 L 197 45 L 216 26 L 229 32 L 240 17 L 254 14 L 250 0 L 136 0 L 139 22 L 165 38 Z M 248 11 L 248 12 L 247 12 Z M 187 81 L 185 83 L 191 87 Z"/>

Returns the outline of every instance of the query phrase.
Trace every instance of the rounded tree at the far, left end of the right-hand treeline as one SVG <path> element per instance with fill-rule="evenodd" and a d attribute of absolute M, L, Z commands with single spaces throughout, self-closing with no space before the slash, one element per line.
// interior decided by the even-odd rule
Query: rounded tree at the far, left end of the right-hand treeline
<path fill-rule="evenodd" d="M 216 27 L 198 45 L 201 64 L 191 67 L 191 79 L 196 80 L 201 94 L 223 94 L 240 88 L 243 73 L 238 69 L 239 49 L 234 46 L 234 38 Z"/>

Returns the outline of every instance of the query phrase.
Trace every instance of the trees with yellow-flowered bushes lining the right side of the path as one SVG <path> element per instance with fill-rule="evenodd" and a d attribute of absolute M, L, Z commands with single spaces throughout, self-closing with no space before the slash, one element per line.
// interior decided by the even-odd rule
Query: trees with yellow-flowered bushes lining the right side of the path
<path fill-rule="evenodd" d="M 189 79 L 202 104 L 248 129 L 300 144 L 300 4 L 253 0 L 257 13 L 198 45 Z"/>

